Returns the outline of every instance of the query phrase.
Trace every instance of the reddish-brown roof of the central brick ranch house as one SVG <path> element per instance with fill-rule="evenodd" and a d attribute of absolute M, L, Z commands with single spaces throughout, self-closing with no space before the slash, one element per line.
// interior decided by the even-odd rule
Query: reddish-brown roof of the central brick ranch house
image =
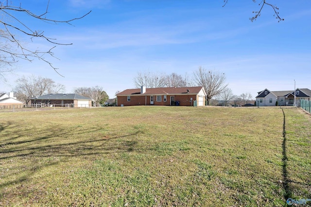
<path fill-rule="evenodd" d="M 195 87 L 158 87 L 158 88 L 146 88 L 146 92 L 141 94 L 140 88 L 126 89 L 118 93 L 117 96 L 130 96 L 130 95 L 168 95 L 168 94 L 198 94 L 203 89 L 202 86 Z"/>

